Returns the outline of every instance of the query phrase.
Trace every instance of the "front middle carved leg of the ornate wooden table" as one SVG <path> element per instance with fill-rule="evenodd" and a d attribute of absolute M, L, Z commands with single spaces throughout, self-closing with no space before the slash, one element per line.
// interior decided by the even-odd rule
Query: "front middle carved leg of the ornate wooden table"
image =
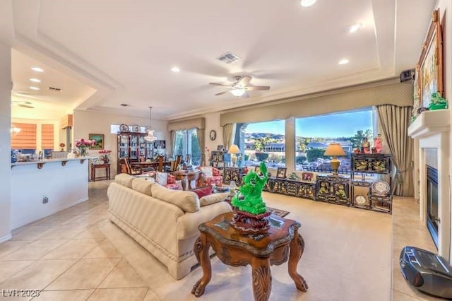
<path fill-rule="evenodd" d="M 270 259 L 255 257 L 251 266 L 254 300 L 266 301 L 271 293 Z"/>

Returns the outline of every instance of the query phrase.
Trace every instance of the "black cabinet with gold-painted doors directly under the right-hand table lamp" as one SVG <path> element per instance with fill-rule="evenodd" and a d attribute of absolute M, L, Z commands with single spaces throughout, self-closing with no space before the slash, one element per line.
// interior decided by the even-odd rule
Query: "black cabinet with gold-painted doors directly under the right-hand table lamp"
<path fill-rule="evenodd" d="M 316 179 L 316 201 L 350 206 L 349 178 L 331 175 L 317 175 Z"/>

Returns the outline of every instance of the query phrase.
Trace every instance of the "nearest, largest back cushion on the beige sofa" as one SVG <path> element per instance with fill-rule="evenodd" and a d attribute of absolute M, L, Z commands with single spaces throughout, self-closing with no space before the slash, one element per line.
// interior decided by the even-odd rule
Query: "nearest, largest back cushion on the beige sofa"
<path fill-rule="evenodd" d="M 158 184 L 152 186 L 153 197 L 172 203 L 184 212 L 196 212 L 199 210 L 198 196 L 192 191 L 171 190 Z"/>

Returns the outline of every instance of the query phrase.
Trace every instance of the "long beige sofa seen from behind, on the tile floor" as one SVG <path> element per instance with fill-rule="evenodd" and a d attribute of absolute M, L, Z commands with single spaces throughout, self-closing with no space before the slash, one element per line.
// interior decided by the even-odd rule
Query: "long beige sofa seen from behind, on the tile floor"
<path fill-rule="evenodd" d="M 170 190 L 119 174 L 107 191 L 109 218 L 180 279 L 198 263 L 193 247 L 198 225 L 231 211 L 226 195 L 198 199 L 192 191 Z"/>

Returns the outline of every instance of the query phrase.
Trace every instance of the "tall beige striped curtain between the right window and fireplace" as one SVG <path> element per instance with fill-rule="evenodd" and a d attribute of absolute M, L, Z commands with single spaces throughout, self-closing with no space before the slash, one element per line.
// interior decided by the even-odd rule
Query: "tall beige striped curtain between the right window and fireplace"
<path fill-rule="evenodd" d="M 396 166 L 393 194 L 397 196 L 412 196 L 412 138 L 408 136 L 410 114 L 412 107 L 397 107 L 395 105 L 379 105 L 376 107 L 383 138 L 393 155 Z M 383 146 L 386 148 L 386 146 Z"/>

